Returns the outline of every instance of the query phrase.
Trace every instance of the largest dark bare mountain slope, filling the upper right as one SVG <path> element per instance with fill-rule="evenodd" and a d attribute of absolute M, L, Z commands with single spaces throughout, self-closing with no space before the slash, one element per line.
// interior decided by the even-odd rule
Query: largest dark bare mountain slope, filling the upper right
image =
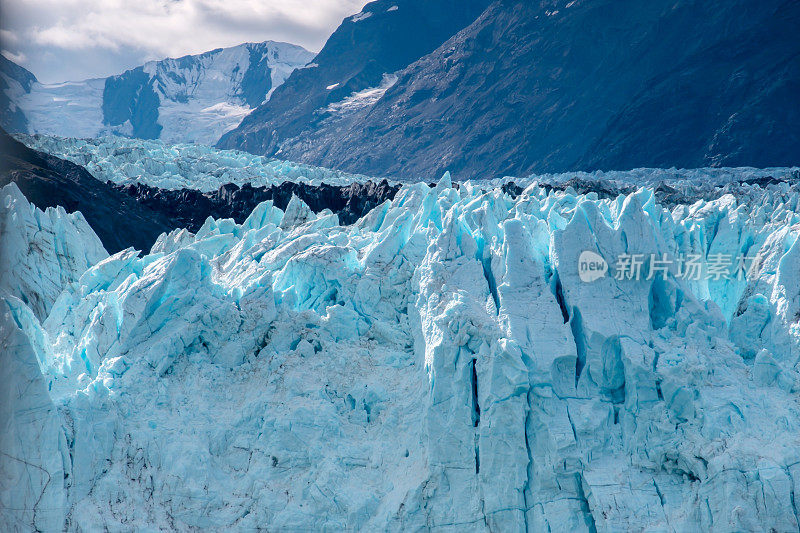
<path fill-rule="evenodd" d="M 416 179 L 794 165 L 798 24 L 791 0 L 498 0 L 372 96 L 309 121 L 276 91 L 220 145 Z"/>

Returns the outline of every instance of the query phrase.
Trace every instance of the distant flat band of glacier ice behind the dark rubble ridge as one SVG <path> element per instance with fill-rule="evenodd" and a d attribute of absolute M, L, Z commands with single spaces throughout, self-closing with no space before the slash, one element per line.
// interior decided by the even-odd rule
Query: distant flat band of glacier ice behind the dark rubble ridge
<path fill-rule="evenodd" d="M 389 80 L 391 81 L 391 79 Z M 194 144 L 169 144 L 160 140 L 105 137 L 76 139 L 50 135 L 16 134 L 29 148 L 81 165 L 96 178 L 117 184 L 142 183 L 161 189 L 198 189 L 211 192 L 227 183 L 254 187 L 277 185 L 284 181 L 348 185 L 365 181 L 367 176 L 253 155 L 238 150 L 219 150 Z M 765 177 L 800 175 L 798 167 L 776 168 L 639 168 L 625 171 L 564 172 L 505 176 L 477 180 L 484 187 L 501 187 L 513 182 L 522 187 L 532 183 L 564 184 L 572 180 L 597 182 L 608 186 L 670 186 L 694 189 L 721 187 Z M 487 176 L 488 178 L 488 176 Z M 402 180 L 390 180 L 400 183 Z"/>

